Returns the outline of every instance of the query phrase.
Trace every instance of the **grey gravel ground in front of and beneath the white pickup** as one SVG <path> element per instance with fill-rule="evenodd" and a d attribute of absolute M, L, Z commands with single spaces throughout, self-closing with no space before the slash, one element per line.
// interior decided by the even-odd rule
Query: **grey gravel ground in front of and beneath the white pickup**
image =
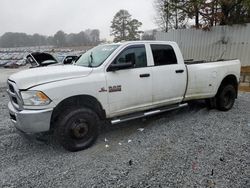
<path fill-rule="evenodd" d="M 0 187 L 250 187 L 250 94 L 229 112 L 199 102 L 106 127 L 76 153 L 19 135 L 7 102 L 1 89 Z"/>

